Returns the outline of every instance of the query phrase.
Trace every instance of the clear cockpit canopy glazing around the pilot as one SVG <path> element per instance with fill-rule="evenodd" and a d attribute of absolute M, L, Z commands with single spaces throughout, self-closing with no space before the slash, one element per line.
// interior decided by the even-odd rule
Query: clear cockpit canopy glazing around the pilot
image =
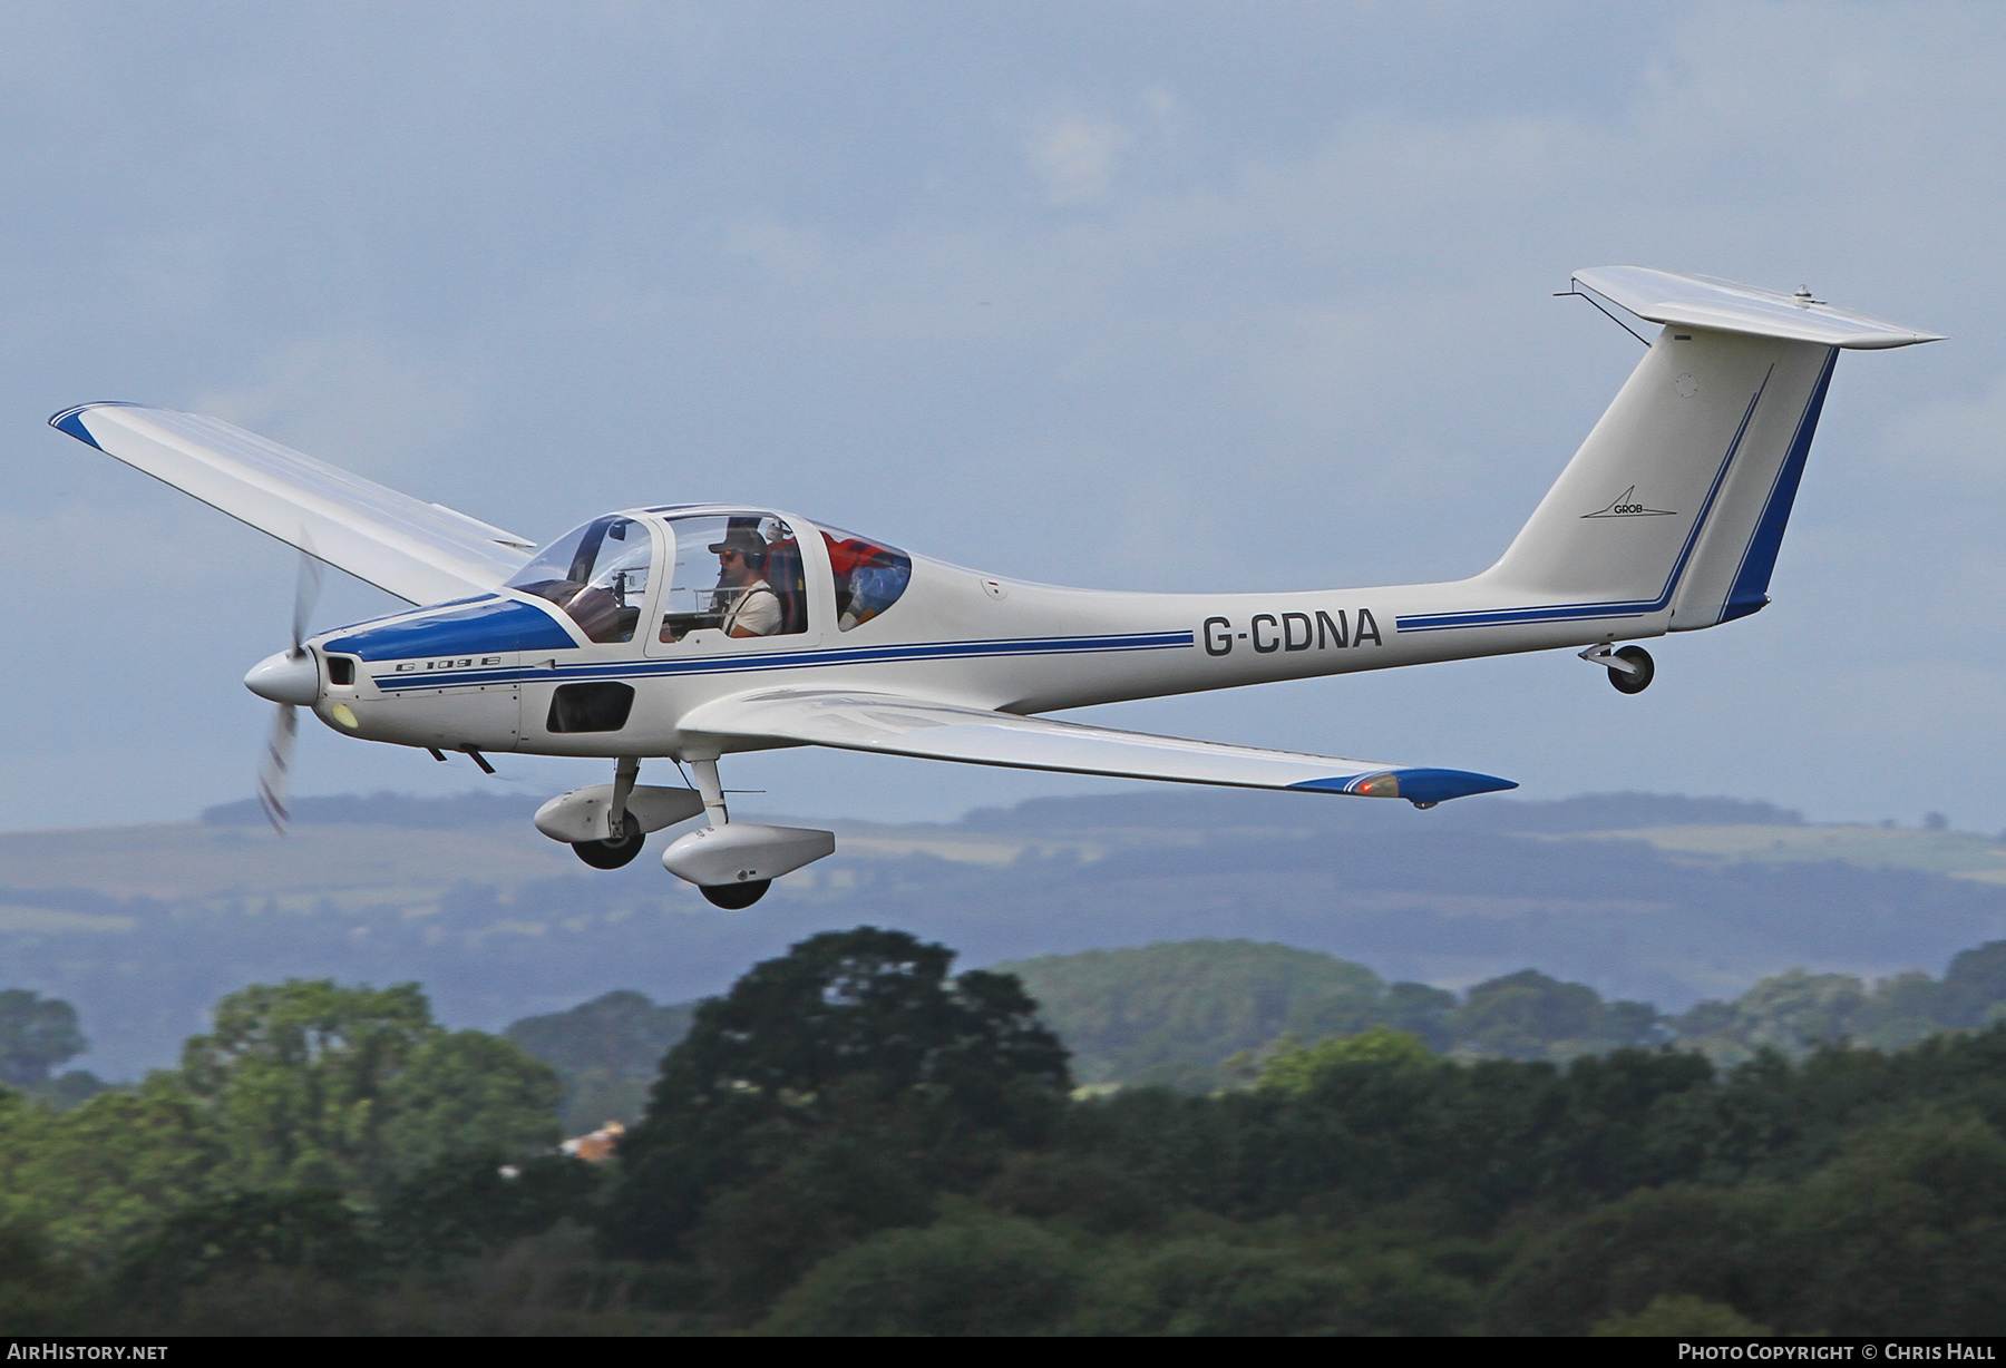
<path fill-rule="evenodd" d="M 834 604 L 814 610 L 800 540 L 786 520 L 648 511 L 664 514 L 664 566 L 656 564 L 650 526 L 612 514 L 552 542 L 510 588 L 550 600 L 588 640 L 602 644 L 632 642 L 642 632 L 650 588 L 658 588 L 652 636 L 674 646 L 704 628 L 728 638 L 798 636 L 830 608 L 837 628 L 851 632 L 899 602 L 913 578 L 913 558 L 905 552 L 822 528 Z M 818 626 L 826 630 L 826 622 Z"/>

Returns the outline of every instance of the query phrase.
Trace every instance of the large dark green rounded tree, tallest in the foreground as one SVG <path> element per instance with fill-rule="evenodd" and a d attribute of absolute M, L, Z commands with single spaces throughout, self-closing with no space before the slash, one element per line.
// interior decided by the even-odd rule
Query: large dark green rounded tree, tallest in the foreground
<path fill-rule="evenodd" d="M 696 1009 L 620 1145 L 614 1250 L 660 1258 L 722 1191 L 847 1137 L 927 1187 L 973 1187 L 1035 1147 L 1071 1085 L 1065 1047 L 1015 977 L 949 977 L 953 951 L 903 931 L 824 933 Z"/>

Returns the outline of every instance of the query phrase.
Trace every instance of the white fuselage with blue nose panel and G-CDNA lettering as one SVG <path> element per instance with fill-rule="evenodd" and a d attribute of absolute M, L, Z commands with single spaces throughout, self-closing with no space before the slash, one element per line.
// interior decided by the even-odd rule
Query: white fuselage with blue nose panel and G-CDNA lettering
<path fill-rule="evenodd" d="M 897 602 L 845 630 L 814 524 L 722 505 L 676 516 L 768 518 L 798 530 L 800 630 L 760 638 L 694 630 L 664 642 L 654 624 L 672 580 L 654 574 L 636 596 L 640 630 L 592 642 L 552 602 L 504 588 L 313 638 L 315 716 L 341 734 L 441 750 L 702 758 L 758 748 L 706 734 L 702 708 L 762 690 L 885 692 L 1037 714 L 1649 638 L 1671 622 L 1669 594 L 1667 602 L 1515 604 L 1486 576 L 1366 590 L 1131 594 L 1003 580 L 915 556 Z M 650 528 L 656 564 L 666 566 L 672 518 L 638 509 L 626 518 Z M 604 686 L 626 686 L 632 700 L 622 708 L 618 690 Z M 570 706 L 578 698 L 588 704 Z M 614 706 L 592 716 L 594 698 Z"/>

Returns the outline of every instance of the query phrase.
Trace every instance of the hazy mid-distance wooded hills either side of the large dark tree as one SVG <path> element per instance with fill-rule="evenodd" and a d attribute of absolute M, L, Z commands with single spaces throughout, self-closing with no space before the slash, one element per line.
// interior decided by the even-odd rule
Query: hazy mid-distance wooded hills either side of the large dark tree
<path fill-rule="evenodd" d="M 1681 1015 L 1607 1001 L 1535 969 L 1450 993 L 1386 983 L 1366 965 L 1258 941 L 1169 941 L 995 965 L 1015 973 L 1073 1055 L 1083 1085 L 1165 1085 L 1206 1093 L 1254 1077 L 1290 1039 L 1392 1027 L 1456 1057 L 1565 1063 L 1625 1045 L 1675 1043 L 1719 1063 L 1761 1049 L 1799 1057 L 1825 1041 L 1902 1049 L 1926 1035 L 2006 1015 L 2006 941 L 1960 953 L 1942 979 L 1866 983 L 1789 969 L 1733 1001 Z M 690 1029 L 694 1003 L 656 1007 L 634 991 L 528 1017 L 508 1035 L 566 1079 L 566 1117 L 584 1129 L 634 1121 L 660 1057 Z"/>

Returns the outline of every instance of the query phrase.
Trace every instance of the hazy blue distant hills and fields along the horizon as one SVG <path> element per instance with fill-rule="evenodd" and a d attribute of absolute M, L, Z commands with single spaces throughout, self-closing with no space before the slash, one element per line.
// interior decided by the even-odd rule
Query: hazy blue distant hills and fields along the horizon
<path fill-rule="evenodd" d="M 94 1041 L 80 1063 L 134 1077 L 251 981 L 417 979 L 443 1019 L 499 1029 L 612 989 L 688 1001 L 804 935 L 863 923 L 953 945 L 963 965 L 1210 939 L 1436 989 L 1537 967 L 1671 1013 L 1793 965 L 1934 975 L 2006 937 L 2000 842 L 1813 826 L 1729 798 L 1472 798 L 1416 812 L 1165 790 L 937 824 L 839 820 L 832 859 L 742 913 L 710 907 L 646 854 L 588 871 L 530 826 L 536 798 L 297 806 L 285 838 L 243 822 L 245 808 L 0 834 L 0 987 L 76 1003 Z M 1139 1061 L 1121 1051 L 1145 1041 L 1107 1049 L 1095 1057 Z"/>

